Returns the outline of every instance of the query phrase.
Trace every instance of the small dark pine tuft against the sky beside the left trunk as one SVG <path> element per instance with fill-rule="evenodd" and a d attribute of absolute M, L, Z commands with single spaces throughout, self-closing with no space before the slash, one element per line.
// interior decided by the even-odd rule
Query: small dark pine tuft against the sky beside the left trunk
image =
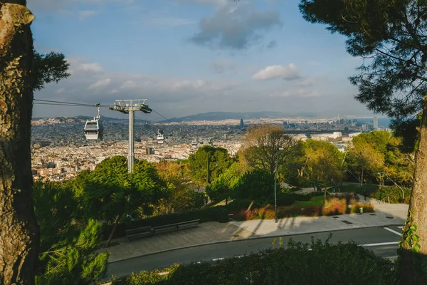
<path fill-rule="evenodd" d="M 48 54 L 34 51 L 33 58 L 33 90 L 42 90 L 44 86 L 51 82 L 68 78 L 68 68 L 70 63 L 65 61 L 63 53 L 50 52 Z"/>

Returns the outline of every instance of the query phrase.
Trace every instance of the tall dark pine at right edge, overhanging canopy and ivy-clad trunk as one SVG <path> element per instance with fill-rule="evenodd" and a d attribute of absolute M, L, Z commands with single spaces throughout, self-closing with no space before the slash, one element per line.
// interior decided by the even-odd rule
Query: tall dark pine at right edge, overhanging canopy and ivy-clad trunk
<path fill-rule="evenodd" d="M 416 224 L 417 250 L 427 254 L 427 1 L 301 0 L 300 11 L 307 21 L 326 24 L 332 33 L 346 36 L 347 51 L 365 59 L 360 73 L 350 78 L 359 89 L 357 100 L 375 113 L 398 119 L 422 111 L 409 203 L 413 220 L 404 232 Z M 406 238 L 403 234 L 402 278 L 419 284 L 423 270 L 416 268 L 420 262 L 411 260 Z"/>

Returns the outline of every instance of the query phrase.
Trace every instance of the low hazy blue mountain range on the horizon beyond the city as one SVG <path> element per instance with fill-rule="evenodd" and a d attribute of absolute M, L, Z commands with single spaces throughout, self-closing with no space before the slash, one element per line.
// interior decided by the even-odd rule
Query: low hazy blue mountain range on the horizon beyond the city
<path fill-rule="evenodd" d="M 319 114 L 315 113 L 300 113 L 298 115 L 290 115 L 289 113 L 283 112 L 246 112 L 246 113 L 238 113 L 238 112 L 209 112 L 209 113 L 201 113 L 196 115 L 189 115 L 181 118 L 172 118 L 170 121 L 172 122 L 186 122 L 191 120 L 248 120 L 248 119 L 258 119 L 258 118 L 289 118 L 289 117 L 304 117 L 311 118 L 317 117 Z M 167 123 L 169 120 L 163 120 L 159 123 Z"/>

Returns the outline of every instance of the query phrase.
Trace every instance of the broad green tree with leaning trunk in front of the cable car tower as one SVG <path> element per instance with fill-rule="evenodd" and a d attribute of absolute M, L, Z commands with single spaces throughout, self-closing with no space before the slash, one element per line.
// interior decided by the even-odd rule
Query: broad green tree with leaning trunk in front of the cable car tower
<path fill-rule="evenodd" d="M 167 195 L 167 187 L 154 164 L 136 160 L 132 174 L 127 172 L 126 157 L 120 155 L 102 160 L 88 175 L 80 203 L 85 217 L 114 224 L 107 241 L 110 244 L 120 219 L 135 215 L 147 204 Z"/>

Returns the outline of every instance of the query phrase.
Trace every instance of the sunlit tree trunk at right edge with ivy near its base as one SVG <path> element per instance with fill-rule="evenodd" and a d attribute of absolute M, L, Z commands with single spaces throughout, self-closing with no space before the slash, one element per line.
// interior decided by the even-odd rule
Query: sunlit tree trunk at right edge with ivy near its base
<path fill-rule="evenodd" d="M 419 267 L 421 264 L 419 259 L 426 259 L 427 255 L 427 95 L 424 96 L 423 118 L 421 119 L 419 132 L 421 133 L 421 138 L 415 156 L 413 189 L 409 202 L 409 212 L 412 213 L 413 222 L 404 227 L 404 232 L 412 224 L 416 224 L 418 229 L 415 234 L 419 237 L 418 244 L 421 245 L 421 249 L 419 254 L 408 252 L 411 247 L 404 241 L 406 238 L 406 234 L 404 234 L 404 249 L 401 251 L 400 264 L 402 284 L 426 284 L 427 277 L 422 276 L 423 272 Z"/>

